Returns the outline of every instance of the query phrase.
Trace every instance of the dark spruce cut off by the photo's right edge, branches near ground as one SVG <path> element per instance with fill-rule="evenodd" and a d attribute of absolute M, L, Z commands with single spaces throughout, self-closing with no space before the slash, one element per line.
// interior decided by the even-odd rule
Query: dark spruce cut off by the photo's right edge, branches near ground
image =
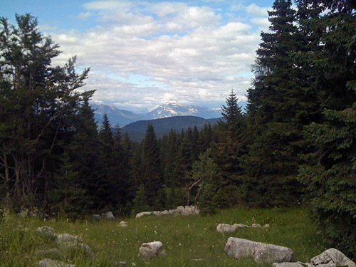
<path fill-rule="evenodd" d="M 306 1 L 298 1 L 302 7 Z M 313 54 L 303 53 L 305 65 L 313 64 L 315 87 L 321 90 L 323 120 L 305 127 L 305 138 L 315 147 L 304 153 L 300 180 L 308 188 L 313 214 L 333 246 L 355 258 L 356 233 L 356 44 L 355 3 L 320 1 L 314 25 L 302 21 L 316 35 Z"/>

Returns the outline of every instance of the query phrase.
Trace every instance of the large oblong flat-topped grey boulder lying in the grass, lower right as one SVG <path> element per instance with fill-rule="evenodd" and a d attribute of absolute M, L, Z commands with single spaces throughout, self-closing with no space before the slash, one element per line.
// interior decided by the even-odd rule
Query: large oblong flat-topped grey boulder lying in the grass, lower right
<path fill-rule="evenodd" d="M 281 263 L 292 261 L 293 251 L 284 246 L 276 246 L 261 242 L 229 237 L 225 252 L 234 258 L 250 256 L 258 263 Z"/>

